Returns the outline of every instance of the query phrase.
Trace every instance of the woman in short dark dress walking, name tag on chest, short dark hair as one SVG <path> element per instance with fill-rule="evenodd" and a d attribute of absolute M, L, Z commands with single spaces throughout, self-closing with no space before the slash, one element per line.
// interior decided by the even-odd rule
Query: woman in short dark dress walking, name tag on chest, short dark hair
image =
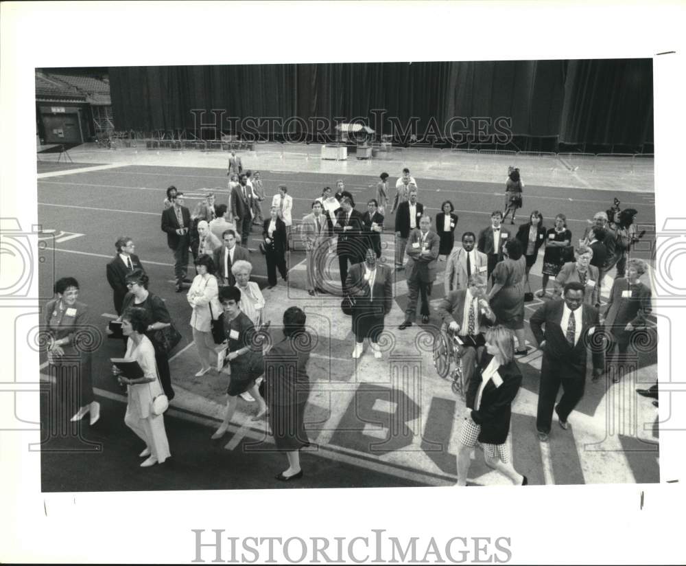
<path fill-rule="evenodd" d="M 224 307 L 224 332 L 228 339 L 226 361 L 222 367 L 222 374 L 230 376 L 228 381 L 228 400 L 226 414 L 222 426 L 212 435 L 213 440 L 222 438 L 228 429 L 228 423 L 238 405 L 238 396 L 243 392 L 250 392 L 257 400 L 257 415 L 252 420 L 259 420 L 267 411 L 264 399 L 257 390 L 255 380 L 264 372 L 262 346 L 255 336 L 255 326 L 252 321 L 241 312 L 239 302 L 241 291 L 237 287 L 222 287 L 219 290 L 219 300 Z M 221 357 L 221 356 L 220 356 Z"/>

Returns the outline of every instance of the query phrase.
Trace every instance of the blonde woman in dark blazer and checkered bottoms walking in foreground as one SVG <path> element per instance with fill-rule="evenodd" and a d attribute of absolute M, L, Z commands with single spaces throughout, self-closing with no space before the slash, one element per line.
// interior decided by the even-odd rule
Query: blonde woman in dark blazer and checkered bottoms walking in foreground
<path fill-rule="evenodd" d="M 527 485 L 528 479 L 514 469 L 510 462 L 510 433 L 512 401 L 521 385 L 521 372 L 514 361 L 512 330 L 494 326 L 486 330 L 486 353 L 477 367 L 477 374 L 469 381 L 466 394 L 467 409 L 462 422 L 458 449 L 458 486 L 466 486 L 471 464 L 470 453 L 477 441 L 484 449 L 486 464 L 506 475 L 515 486 Z"/>

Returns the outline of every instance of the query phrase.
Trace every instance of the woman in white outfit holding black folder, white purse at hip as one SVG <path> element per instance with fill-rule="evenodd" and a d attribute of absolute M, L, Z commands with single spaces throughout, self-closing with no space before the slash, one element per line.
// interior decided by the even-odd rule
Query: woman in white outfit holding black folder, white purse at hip
<path fill-rule="evenodd" d="M 153 414 L 151 410 L 152 400 L 163 394 L 155 365 L 155 348 L 145 336 L 145 330 L 151 322 L 147 311 L 137 306 L 127 308 L 121 315 L 121 332 L 128 336 L 126 357 L 138 362 L 143 377 L 131 379 L 124 376 L 117 366 L 112 368 L 113 373 L 119 376 L 119 383 L 128 385 L 124 422 L 145 442 L 145 450 L 139 457 L 147 456 L 147 460 L 141 464 L 141 468 L 162 464 L 171 456 L 165 418 Z"/>

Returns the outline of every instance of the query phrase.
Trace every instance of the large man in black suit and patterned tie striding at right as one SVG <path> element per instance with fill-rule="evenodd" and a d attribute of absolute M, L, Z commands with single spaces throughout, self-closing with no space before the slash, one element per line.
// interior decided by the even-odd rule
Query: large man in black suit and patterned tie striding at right
<path fill-rule="evenodd" d="M 565 285 L 564 300 L 546 302 L 530 319 L 539 348 L 543 350 L 541 387 L 536 414 L 539 440 L 548 440 L 553 409 L 560 427 L 567 430 L 567 417 L 584 395 L 587 347 L 593 354 L 593 380 L 604 367 L 602 332 L 598 330 L 598 309 L 584 304 L 585 288 L 579 282 Z M 545 324 L 545 334 L 541 326 Z M 598 332 L 596 334 L 596 332 Z M 563 396 L 555 405 L 560 385 Z"/>

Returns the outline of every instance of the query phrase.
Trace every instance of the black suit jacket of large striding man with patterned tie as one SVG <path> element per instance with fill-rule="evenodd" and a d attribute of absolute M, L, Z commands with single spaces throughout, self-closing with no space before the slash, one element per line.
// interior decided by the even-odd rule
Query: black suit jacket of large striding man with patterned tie
<path fill-rule="evenodd" d="M 536 310 L 529 321 L 536 342 L 540 344 L 545 340 L 541 379 L 545 379 L 551 374 L 556 374 L 563 379 L 585 379 L 587 346 L 591 348 L 593 354 L 593 367 L 598 370 L 604 366 L 604 349 L 600 339 L 602 330 L 599 328 L 598 309 L 588 304 L 582 304 L 579 307 L 583 309 L 581 335 L 572 348 L 567 342 L 567 328 L 560 327 L 564 306 L 564 300 L 547 302 Z M 545 334 L 541 329 L 544 324 Z M 591 328 L 593 328 L 593 332 L 592 335 L 589 335 Z"/>

